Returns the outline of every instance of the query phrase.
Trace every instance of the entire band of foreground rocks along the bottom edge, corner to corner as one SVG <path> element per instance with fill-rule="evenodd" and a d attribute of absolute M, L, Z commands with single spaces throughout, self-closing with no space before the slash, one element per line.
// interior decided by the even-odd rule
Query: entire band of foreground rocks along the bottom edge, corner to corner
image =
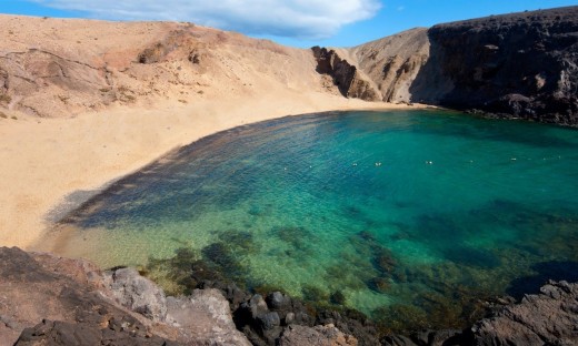
<path fill-rule="evenodd" d="M 191 273 L 191 275 L 193 275 Z M 497 299 L 464 330 L 383 335 L 359 313 L 201 279 L 187 296 L 133 268 L 0 248 L 0 345 L 572 345 L 578 284 Z M 192 287 L 191 287 L 192 288 Z M 242 332 L 242 333 L 241 333 Z"/>

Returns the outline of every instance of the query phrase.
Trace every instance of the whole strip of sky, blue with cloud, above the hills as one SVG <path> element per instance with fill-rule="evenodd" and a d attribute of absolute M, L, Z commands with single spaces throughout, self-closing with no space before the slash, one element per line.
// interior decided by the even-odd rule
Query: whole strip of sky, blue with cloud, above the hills
<path fill-rule="evenodd" d="M 577 0 L 0 0 L 0 12 L 190 21 L 305 48 L 350 47 L 416 27 L 576 4 Z"/>

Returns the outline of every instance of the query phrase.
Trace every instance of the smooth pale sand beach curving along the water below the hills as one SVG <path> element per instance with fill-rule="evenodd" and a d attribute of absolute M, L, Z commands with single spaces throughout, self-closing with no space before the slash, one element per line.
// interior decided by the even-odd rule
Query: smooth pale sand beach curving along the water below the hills
<path fill-rule="evenodd" d="M 288 91 L 281 98 L 168 100 L 67 119 L 2 121 L 0 203 L 8 207 L 0 211 L 0 245 L 36 250 L 59 220 L 114 182 L 221 131 L 307 113 L 427 108 Z"/>

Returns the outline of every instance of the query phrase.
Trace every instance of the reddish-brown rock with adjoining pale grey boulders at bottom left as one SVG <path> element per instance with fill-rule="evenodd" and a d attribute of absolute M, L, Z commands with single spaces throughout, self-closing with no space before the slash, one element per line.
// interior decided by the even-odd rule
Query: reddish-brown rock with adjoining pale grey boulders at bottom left
<path fill-rule="evenodd" d="M 130 268 L 0 247 L 0 345 L 250 345 L 216 289 L 165 297 Z"/>

